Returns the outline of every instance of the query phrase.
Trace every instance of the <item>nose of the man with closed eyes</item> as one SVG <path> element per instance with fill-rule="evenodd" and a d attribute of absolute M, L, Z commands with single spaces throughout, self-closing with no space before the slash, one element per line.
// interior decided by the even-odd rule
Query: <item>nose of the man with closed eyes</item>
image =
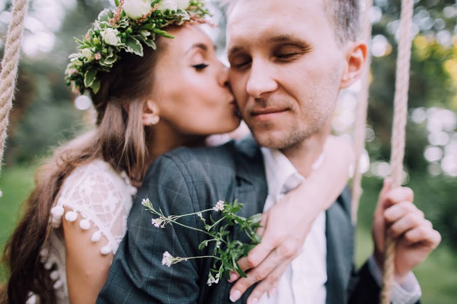
<path fill-rule="evenodd" d="M 273 78 L 273 71 L 268 63 L 263 61 L 253 61 L 246 84 L 246 92 L 253 98 L 260 98 L 265 93 L 271 93 L 278 88 L 277 82 Z"/>

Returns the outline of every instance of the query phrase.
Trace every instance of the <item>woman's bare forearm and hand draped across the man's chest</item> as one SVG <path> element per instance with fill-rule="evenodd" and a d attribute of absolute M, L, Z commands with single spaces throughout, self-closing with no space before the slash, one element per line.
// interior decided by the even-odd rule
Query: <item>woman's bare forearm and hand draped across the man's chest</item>
<path fill-rule="evenodd" d="M 232 272 L 230 282 L 238 280 L 230 299 L 238 300 L 253 284 L 259 282 L 247 303 L 256 303 L 268 292 L 273 294 L 279 278 L 301 252 L 317 215 L 327 210 L 343 191 L 354 158 L 348 140 L 331 136 L 324 147 L 324 162 L 298 188 L 289 192 L 262 217 L 262 242 L 238 263 L 247 272 L 239 278 Z"/>

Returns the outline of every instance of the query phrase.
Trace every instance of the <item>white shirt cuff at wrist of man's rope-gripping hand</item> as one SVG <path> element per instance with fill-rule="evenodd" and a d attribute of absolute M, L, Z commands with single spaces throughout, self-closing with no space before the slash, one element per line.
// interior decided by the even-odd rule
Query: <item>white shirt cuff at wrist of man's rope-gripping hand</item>
<path fill-rule="evenodd" d="M 368 269 L 376 283 L 382 286 L 382 272 L 373 256 L 368 259 Z M 421 295 L 422 290 L 419 282 L 417 282 L 414 274 L 410 272 L 402 285 L 394 281 L 390 300 L 394 304 L 414 304 L 420 299 Z"/>

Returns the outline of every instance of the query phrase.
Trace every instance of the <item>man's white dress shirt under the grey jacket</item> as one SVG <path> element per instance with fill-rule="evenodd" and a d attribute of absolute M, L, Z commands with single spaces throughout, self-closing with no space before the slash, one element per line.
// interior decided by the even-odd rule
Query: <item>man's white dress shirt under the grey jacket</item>
<path fill-rule="evenodd" d="M 279 150 L 262 148 L 268 184 L 264 212 L 268 211 L 287 192 L 296 188 L 305 178 Z M 313 165 L 317 168 L 323 157 Z M 300 210 L 297 210 L 300 212 Z M 381 271 L 375 260 L 369 259 L 369 269 L 378 284 Z M 287 267 L 279 279 L 277 291 L 269 297 L 264 294 L 259 304 L 325 304 L 327 290 L 327 238 L 325 237 L 325 212 L 314 221 L 300 254 Z M 402 286 L 394 284 L 391 300 L 394 304 L 412 304 L 421 296 L 419 283 L 412 273 Z"/>

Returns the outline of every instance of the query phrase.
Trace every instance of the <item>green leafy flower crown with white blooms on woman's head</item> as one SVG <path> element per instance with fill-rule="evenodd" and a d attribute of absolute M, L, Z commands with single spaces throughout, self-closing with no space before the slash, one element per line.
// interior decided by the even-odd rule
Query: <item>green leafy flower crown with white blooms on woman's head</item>
<path fill-rule="evenodd" d="M 67 86 L 75 93 L 100 90 L 99 72 L 109 72 L 122 52 L 143 56 L 143 47 L 157 49 L 156 35 L 174 38 L 161 29 L 185 22 L 207 23 L 210 16 L 201 0 L 115 0 L 116 11 L 103 10 L 83 40 L 75 37 L 79 53 L 69 56 Z"/>

